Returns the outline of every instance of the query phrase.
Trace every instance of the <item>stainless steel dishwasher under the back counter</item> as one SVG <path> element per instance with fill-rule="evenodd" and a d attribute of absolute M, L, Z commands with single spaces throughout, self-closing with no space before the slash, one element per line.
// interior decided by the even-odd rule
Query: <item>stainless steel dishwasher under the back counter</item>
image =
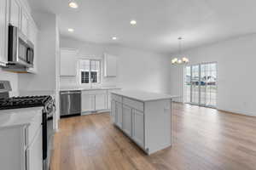
<path fill-rule="evenodd" d="M 81 91 L 61 91 L 61 116 L 81 114 Z"/>

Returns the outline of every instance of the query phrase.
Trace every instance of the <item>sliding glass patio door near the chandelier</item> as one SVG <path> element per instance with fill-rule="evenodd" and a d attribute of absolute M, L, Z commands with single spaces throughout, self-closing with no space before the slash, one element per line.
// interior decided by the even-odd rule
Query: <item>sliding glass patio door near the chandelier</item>
<path fill-rule="evenodd" d="M 217 100 L 217 63 L 189 65 L 185 69 L 184 101 L 215 107 Z"/>

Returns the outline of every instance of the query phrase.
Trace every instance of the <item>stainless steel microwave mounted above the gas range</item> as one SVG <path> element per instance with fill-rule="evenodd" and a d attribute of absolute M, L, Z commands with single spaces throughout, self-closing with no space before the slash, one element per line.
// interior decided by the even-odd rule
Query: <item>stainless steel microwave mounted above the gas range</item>
<path fill-rule="evenodd" d="M 32 67 L 34 46 L 16 26 L 9 26 L 8 65 Z"/>

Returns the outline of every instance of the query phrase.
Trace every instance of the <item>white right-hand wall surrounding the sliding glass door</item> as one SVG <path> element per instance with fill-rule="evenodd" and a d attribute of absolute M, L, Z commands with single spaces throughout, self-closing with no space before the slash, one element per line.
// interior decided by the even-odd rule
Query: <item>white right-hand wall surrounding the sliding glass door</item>
<path fill-rule="evenodd" d="M 217 108 L 219 110 L 256 116 L 255 47 L 256 34 L 184 52 L 184 55 L 190 59 L 189 64 L 218 62 Z M 183 67 L 173 65 L 171 73 L 171 92 L 178 92 L 183 96 Z"/>

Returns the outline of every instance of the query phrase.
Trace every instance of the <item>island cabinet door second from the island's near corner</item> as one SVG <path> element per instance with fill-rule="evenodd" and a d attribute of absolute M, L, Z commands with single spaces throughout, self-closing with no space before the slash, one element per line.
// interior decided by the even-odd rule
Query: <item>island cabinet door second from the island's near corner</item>
<path fill-rule="evenodd" d="M 123 105 L 123 131 L 131 136 L 132 112 L 131 107 Z"/>

